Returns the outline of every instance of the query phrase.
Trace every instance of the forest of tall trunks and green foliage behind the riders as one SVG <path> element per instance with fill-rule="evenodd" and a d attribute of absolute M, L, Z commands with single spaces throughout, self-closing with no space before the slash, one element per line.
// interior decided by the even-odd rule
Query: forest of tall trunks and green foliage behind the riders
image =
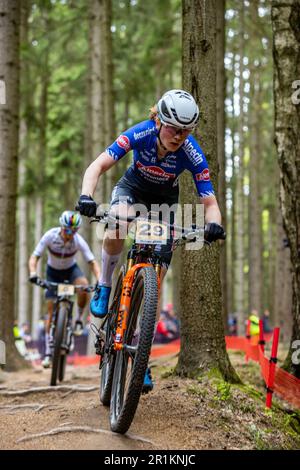
<path fill-rule="evenodd" d="M 227 235 L 173 256 L 162 307 L 172 303 L 180 320 L 175 374 L 217 370 L 238 383 L 230 321 L 245 336 L 251 313 L 267 311 L 282 367 L 300 379 L 299 0 L 0 0 L 5 370 L 28 367 L 14 325 L 26 323 L 36 340 L 46 313 L 42 289 L 28 282 L 34 248 L 74 211 L 91 162 L 171 89 L 199 105 L 193 135 Z M 132 152 L 101 176 L 98 204 L 131 164 Z M 179 189 L 181 204 L 199 202 L 189 172 Z M 81 235 L 100 263 L 95 233 L 84 218 Z M 45 269 L 43 259 L 39 276 Z"/>

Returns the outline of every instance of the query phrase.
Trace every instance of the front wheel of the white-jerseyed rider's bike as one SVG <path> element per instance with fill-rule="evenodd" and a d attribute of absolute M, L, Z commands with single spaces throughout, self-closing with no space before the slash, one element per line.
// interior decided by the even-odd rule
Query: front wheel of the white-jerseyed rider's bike
<path fill-rule="evenodd" d="M 66 332 L 66 325 L 68 319 L 68 305 L 63 302 L 60 302 L 58 305 L 58 311 L 56 313 L 56 327 L 55 327 L 55 337 L 54 337 L 54 350 L 52 358 L 52 371 L 51 371 L 51 380 L 50 385 L 56 385 L 57 377 L 60 371 L 61 359 L 65 356 L 65 351 L 62 351 L 61 345 Z M 62 352 L 64 353 L 62 355 Z"/>

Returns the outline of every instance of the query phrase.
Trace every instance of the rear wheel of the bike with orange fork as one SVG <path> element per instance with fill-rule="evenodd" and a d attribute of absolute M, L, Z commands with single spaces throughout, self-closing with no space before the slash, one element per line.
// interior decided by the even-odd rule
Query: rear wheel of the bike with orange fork
<path fill-rule="evenodd" d="M 125 275 L 125 266 L 121 267 L 116 283 L 112 305 L 109 309 L 109 317 L 105 325 L 105 344 L 102 357 L 101 378 L 100 378 L 100 401 L 104 406 L 110 405 L 111 387 L 115 368 L 114 332 L 115 324 L 120 306 L 122 284 Z"/>

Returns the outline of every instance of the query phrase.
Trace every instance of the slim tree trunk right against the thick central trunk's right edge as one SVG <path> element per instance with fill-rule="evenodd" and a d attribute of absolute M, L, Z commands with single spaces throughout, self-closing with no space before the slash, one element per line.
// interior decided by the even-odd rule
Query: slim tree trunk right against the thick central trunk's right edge
<path fill-rule="evenodd" d="M 226 217 L 226 179 L 225 179 L 225 0 L 217 1 L 217 148 L 219 163 L 219 204 L 222 214 L 222 225 L 227 229 Z M 227 244 L 222 243 L 220 247 L 221 283 L 222 283 L 222 308 L 224 327 L 227 331 L 228 323 L 228 298 L 227 298 Z"/>

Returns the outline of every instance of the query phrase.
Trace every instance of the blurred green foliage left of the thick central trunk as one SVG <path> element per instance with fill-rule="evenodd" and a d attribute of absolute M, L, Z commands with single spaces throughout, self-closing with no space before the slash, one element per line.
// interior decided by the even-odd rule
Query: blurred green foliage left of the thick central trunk
<path fill-rule="evenodd" d="M 180 7 L 179 0 L 113 2 L 111 30 L 119 131 L 147 119 L 157 90 L 180 85 Z M 88 33 L 86 1 L 31 2 L 28 44 L 21 45 L 27 74 L 27 79 L 22 79 L 21 101 L 30 134 L 29 158 L 26 181 L 19 193 L 27 194 L 32 201 L 36 195 L 43 196 L 44 230 L 57 224 L 63 209 L 73 208 L 85 170 Z M 47 95 L 45 113 L 42 93 Z M 43 135 L 45 145 L 41 146 Z M 130 162 L 128 156 L 124 163 Z M 124 166 L 120 165 L 119 170 L 121 176 Z"/>

